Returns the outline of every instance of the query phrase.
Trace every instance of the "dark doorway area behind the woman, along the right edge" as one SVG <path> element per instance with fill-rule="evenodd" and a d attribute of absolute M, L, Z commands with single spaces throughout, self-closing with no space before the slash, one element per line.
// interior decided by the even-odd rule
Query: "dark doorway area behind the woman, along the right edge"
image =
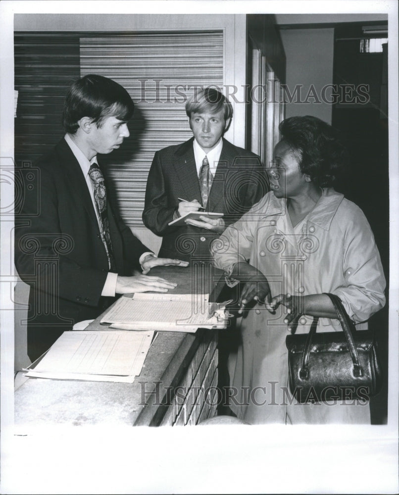
<path fill-rule="evenodd" d="M 387 23 L 378 26 L 353 23 L 335 29 L 333 78 L 341 91 L 333 105 L 332 124 L 343 133 L 351 158 L 346 177 L 337 189 L 366 215 L 381 254 L 388 287 L 387 28 Z M 378 41 L 367 41 L 374 39 Z M 380 46 L 382 51 L 373 51 Z M 343 87 L 347 88 L 345 92 Z M 372 424 L 386 424 L 388 416 L 388 289 L 386 297 L 385 307 L 369 323 L 378 336 L 384 372 L 383 389 L 370 401 Z"/>

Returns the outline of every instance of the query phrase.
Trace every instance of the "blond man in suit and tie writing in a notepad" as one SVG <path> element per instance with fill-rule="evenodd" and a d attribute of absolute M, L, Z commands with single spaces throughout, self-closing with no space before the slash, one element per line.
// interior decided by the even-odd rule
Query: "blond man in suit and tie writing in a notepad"
<path fill-rule="evenodd" d="M 144 224 L 162 236 L 160 256 L 209 259 L 210 243 L 268 192 L 259 157 L 223 138 L 233 107 L 206 88 L 187 100 L 193 138 L 157 151 L 147 182 Z M 223 213 L 221 218 L 169 225 L 190 211 Z"/>

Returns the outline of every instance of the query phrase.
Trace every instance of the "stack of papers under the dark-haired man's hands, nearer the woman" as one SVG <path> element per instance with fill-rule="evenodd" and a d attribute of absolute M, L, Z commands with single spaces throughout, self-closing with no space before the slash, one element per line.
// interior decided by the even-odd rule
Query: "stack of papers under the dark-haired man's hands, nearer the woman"
<path fill-rule="evenodd" d="M 224 328 L 224 306 L 209 302 L 208 294 L 149 294 L 120 297 L 101 318 L 102 325 L 125 330 L 196 332 Z"/>

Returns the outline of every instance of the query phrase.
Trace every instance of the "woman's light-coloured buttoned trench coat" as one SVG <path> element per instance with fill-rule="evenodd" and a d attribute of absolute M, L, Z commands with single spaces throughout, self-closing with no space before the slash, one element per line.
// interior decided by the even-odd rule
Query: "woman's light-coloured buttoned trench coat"
<path fill-rule="evenodd" d="M 385 304 L 385 278 L 370 226 L 360 208 L 331 188 L 323 189 L 295 228 L 286 199 L 268 193 L 226 229 L 213 255 L 229 285 L 236 283 L 229 278 L 234 264 L 249 261 L 266 276 L 272 296 L 333 293 L 357 324 Z M 242 342 L 229 358 L 231 409 L 252 424 L 369 423 L 367 402 L 300 405 L 292 399 L 285 315 L 283 306 L 273 315 L 256 304 L 238 318 Z M 301 321 L 297 333 L 307 333 L 312 318 Z M 341 330 L 338 320 L 319 319 L 318 332 L 334 330 Z"/>

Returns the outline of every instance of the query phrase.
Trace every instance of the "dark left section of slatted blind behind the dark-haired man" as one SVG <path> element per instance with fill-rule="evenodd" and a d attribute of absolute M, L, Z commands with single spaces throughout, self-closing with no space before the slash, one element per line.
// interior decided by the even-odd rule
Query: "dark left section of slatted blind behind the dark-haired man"
<path fill-rule="evenodd" d="M 64 97 L 80 75 L 79 38 L 79 33 L 15 33 L 17 165 L 34 163 L 64 135 Z"/>

